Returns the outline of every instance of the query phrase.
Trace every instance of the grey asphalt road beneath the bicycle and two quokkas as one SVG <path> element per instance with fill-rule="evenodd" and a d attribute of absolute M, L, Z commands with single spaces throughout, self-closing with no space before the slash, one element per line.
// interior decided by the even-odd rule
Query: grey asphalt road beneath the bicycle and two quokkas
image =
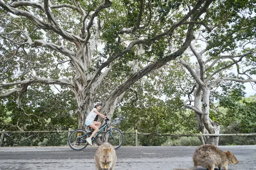
<path fill-rule="evenodd" d="M 192 168 L 195 148 L 120 147 L 116 150 L 115 170 Z M 239 160 L 239 164 L 230 165 L 229 170 L 256 170 L 256 145 L 219 148 L 230 150 Z M 69 147 L 0 147 L 0 170 L 94 170 L 95 151 L 96 147 L 81 151 Z"/>

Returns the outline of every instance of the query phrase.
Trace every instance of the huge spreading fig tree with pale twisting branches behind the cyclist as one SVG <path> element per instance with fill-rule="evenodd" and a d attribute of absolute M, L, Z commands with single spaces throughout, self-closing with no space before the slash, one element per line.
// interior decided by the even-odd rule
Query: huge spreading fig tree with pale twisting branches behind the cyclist
<path fill-rule="evenodd" d="M 183 54 L 212 1 L 0 0 L 0 97 L 18 94 L 18 109 L 31 116 L 21 102 L 31 85 L 67 87 L 84 128 L 105 77 L 114 67 L 129 67 L 119 69 L 118 86 L 106 89 L 101 112 L 111 117 L 127 88 Z M 169 48 L 174 33 L 177 50 Z"/>

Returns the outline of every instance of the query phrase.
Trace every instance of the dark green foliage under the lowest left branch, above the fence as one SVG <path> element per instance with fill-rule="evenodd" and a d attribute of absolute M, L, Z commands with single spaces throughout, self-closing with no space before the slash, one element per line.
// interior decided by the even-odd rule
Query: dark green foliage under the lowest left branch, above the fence
<path fill-rule="evenodd" d="M 18 130 L 17 124 L 24 130 L 67 130 L 69 127 L 77 127 L 77 106 L 73 93 L 63 91 L 62 94 L 55 94 L 49 85 L 32 87 L 23 96 L 23 108 L 26 114 L 38 117 L 22 115 L 17 110 L 17 96 L 12 95 L 0 102 L 0 107 L 3 108 L 0 111 L 1 129 Z"/>

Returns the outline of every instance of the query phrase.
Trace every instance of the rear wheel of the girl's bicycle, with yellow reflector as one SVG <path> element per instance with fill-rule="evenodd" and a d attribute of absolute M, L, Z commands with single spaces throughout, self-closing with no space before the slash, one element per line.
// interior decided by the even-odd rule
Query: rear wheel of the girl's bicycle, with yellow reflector
<path fill-rule="evenodd" d="M 83 150 L 88 145 L 86 138 L 88 134 L 84 129 L 76 129 L 68 136 L 67 142 L 73 150 Z"/>

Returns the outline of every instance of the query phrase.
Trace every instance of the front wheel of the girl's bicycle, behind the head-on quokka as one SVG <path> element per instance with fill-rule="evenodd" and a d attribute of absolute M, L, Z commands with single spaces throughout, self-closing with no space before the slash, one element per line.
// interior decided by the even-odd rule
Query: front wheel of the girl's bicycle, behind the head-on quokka
<path fill-rule="evenodd" d="M 119 129 L 112 128 L 104 133 L 103 142 L 108 142 L 112 144 L 115 149 L 118 149 L 124 142 L 124 136 Z"/>

